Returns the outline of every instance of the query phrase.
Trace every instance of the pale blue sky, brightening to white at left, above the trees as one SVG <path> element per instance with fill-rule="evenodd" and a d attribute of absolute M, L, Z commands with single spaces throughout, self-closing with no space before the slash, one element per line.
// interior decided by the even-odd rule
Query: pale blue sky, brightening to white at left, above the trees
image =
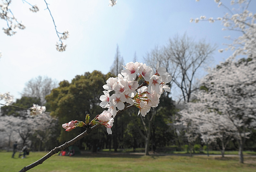
<path fill-rule="evenodd" d="M 0 92 L 20 98 L 25 83 L 31 78 L 48 76 L 58 81 L 71 81 L 76 75 L 99 70 L 106 74 L 114 61 L 117 44 L 125 63 L 134 58 L 139 62 L 155 46 L 166 45 L 174 35 L 185 32 L 195 40 L 205 39 L 217 49 L 230 43 L 224 36 L 238 37 L 238 32 L 222 31 L 221 22 L 190 23 L 190 18 L 222 17 L 227 10 L 218 8 L 214 0 L 47 0 L 59 32 L 68 30 L 67 49 L 58 52 L 58 41 L 50 14 L 41 0 L 34 0 L 38 13 L 29 5 L 12 1 L 11 9 L 26 26 L 16 35 L 0 31 Z M 229 5 L 229 0 L 223 1 Z M 34 5 L 33 4 L 33 5 Z M 256 6 L 252 1 L 250 7 Z M 255 13 L 255 9 L 249 9 Z M 0 26 L 6 22 L 0 20 Z M 232 52 L 214 53 L 210 66 L 224 61 Z"/>

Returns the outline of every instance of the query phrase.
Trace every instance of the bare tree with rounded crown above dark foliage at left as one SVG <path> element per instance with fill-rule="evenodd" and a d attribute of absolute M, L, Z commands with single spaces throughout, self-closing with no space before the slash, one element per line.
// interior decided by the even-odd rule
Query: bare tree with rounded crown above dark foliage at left
<path fill-rule="evenodd" d="M 22 96 L 37 97 L 40 98 L 41 105 L 46 103 L 45 96 L 51 93 L 53 88 L 58 86 L 56 80 L 45 76 L 38 76 L 30 79 L 25 88 L 23 89 Z"/>

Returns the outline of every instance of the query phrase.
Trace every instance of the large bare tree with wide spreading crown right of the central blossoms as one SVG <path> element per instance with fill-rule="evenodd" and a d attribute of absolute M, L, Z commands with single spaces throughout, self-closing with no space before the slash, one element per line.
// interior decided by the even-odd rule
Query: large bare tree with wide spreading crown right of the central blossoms
<path fill-rule="evenodd" d="M 184 102 L 189 102 L 192 93 L 198 89 L 195 78 L 198 69 L 210 59 L 216 46 L 211 46 L 205 40 L 195 42 L 186 33 L 169 39 L 167 46 L 155 47 L 147 54 L 145 60 L 151 63 L 159 62 L 173 76 L 170 87 L 174 83 L 181 90 Z"/>

